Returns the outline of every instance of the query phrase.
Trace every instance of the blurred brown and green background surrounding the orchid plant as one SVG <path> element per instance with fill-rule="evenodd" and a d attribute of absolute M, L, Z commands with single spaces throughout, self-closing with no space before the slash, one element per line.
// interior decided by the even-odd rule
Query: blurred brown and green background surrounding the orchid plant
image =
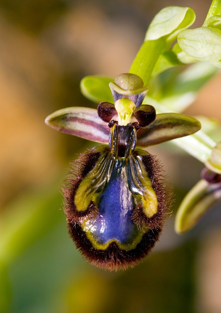
<path fill-rule="evenodd" d="M 2 262 L 3 312 L 221 312 L 219 207 L 182 236 L 171 217 L 135 269 L 94 269 L 75 251 L 59 210 L 64 169 L 93 143 L 44 124 L 60 108 L 96 107 L 80 80 L 127 72 L 151 19 L 169 5 L 193 8 L 197 27 L 210 1 L 0 1 L 0 218 L 10 221 L 3 246 L 12 244 Z M 221 120 L 220 83 L 217 74 L 187 114 Z M 175 185 L 176 210 L 203 165 L 160 146 L 152 153 Z"/>

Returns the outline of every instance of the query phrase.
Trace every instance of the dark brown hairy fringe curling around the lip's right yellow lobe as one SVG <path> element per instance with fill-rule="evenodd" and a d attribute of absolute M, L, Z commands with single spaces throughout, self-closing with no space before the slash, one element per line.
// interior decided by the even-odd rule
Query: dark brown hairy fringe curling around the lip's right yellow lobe
<path fill-rule="evenodd" d="M 172 186 L 168 185 L 163 165 L 156 156 L 152 156 L 151 154 L 144 155 L 142 156 L 142 162 L 157 196 L 158 211 L 153 217 L 147 218 L 143 212 L 142 203 L 140 201 L 134 209 L 132 219 L 140 229 L 145 229 L 146 227 L 150 229 L 156 227 L 162 228 L 167 215 L 171 213 L 170 208 L 173 202 Z"/>

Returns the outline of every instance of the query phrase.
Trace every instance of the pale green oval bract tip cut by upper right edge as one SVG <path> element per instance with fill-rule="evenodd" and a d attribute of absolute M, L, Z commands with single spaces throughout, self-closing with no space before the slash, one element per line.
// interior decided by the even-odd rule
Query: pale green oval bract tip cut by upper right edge
<path fill-rule="evenodd" d="M 191 57 L 220 66 L 221 31 L 217 28 L 200 27 L 182 31 L 177 41 L 181 49 Z"/>

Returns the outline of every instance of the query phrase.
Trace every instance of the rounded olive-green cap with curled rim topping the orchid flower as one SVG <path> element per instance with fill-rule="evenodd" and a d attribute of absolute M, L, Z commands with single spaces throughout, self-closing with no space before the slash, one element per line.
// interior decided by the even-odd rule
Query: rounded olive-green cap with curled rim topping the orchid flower
<path fill-rule="evenodd" d="M 137 95 L 148 90 L 142 78 L 131 73 L 119 74 L 109 86 L 121 95 Z"/>

